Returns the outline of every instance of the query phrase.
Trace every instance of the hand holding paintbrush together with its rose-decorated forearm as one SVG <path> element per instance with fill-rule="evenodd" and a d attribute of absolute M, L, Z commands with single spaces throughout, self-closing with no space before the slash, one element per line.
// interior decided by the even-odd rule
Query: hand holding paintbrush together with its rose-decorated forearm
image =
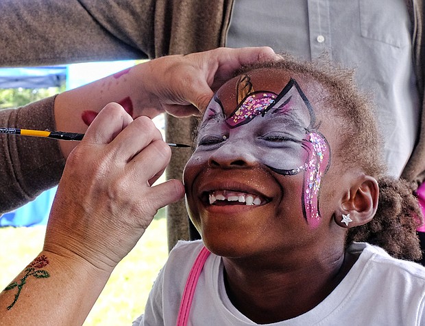
<path fill-rule="evenodd" d="M 179 180 L 150 186 L 170 159 L 151 120 L 107 105 L 66 162 L 43 251 L 0 295 L 0 325 L 81 325 L 158 209 L 183 197 Z"/>

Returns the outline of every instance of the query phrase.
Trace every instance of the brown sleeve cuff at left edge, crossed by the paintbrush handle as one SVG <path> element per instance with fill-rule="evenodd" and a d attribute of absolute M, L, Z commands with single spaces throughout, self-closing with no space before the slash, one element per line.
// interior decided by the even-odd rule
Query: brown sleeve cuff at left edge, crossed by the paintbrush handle
<path fill-rule="evenodd" d="M 54 130 L 54 96 L 0 110 L 0 126 Z M 0 213 L 17 208 L 58 184 L 65 160 L 58 141 L 0 135 Z"/>

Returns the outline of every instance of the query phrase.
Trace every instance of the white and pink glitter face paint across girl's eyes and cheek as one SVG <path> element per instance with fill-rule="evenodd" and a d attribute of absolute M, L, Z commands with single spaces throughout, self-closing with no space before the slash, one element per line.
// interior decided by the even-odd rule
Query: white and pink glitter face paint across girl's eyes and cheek
<path fill-rule="evenodd" d="M 319 186 L 328 168 L 330 150 L 323 135 L 315 131 L 314 111 L 298 84 L 291 79 L 278 95 L 252 92 L 232 113 L 229 111 L 215 96 L 204 114 L 193 157 L 211 151 L 226 155 L 243 150 L 278 174 L 306 172 L 304 217 L 315 226 L 319 222 Z M 237 198 L 236 194 L 230 195 L 231 201 Z M 210 195 L 211 202 L 216 200 L 217 195 Z"/>

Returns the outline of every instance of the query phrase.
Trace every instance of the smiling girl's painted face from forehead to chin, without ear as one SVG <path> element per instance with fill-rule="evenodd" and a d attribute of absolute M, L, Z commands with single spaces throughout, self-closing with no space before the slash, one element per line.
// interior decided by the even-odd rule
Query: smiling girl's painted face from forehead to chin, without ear
<path fill-rule="evenodd" d="M 209 249 L 260 253 L 328 226 L 319 198 L 330 146 L 316 115 L 282 71 L 254 70 L 217 92 L 184 171 L 189 215 Z"/>

